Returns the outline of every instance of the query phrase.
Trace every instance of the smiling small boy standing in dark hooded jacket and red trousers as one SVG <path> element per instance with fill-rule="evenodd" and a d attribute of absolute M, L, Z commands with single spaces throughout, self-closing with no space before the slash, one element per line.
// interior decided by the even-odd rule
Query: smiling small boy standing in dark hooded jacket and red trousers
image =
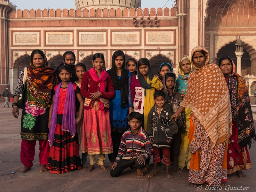
<path fill-rule="evenodd" d="M 172 178 L 169 173 L 170 161 L 170 147 L 172 145 L 172 138 L 178 132 L 178 126 L 172 119 L 171 109 L 165 104 L 165 93 L 158 90 L 154 93 L 155 105 L 148 113 L 148 135 L 149 141 L 153 146 L 153 163 L 154 170 L 148 174 L 148 177 L 157 175 L 157 163 L 161 162 L 160 151 L 163 153 L 163 163 L 165 164 L 166 176 L 168 179 Z"/>

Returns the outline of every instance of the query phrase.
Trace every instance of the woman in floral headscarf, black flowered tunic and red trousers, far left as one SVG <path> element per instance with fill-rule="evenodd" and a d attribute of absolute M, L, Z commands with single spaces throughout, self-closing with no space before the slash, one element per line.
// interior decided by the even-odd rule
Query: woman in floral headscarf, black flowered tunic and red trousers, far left
<path fill-rule="evenodd" d="M 33 166 L 35 157 L 36 140 L 39 141 L 40 172 L 47 171 L 46 164 L 49 157 L 48 145 L 48 117 L 51 107 L 52 91 L 58 84 L 55 70 L 48 67 L 44 52 L 34 50 L 30 55 L 30 66 L 27 68 L 26 78 L 26 105 L 21 114 L 21 149 L 20 160 L 24 165 L 20 173 L 28 171 Z M 12 114 L 15 118 L 19 116 L 18 100 L 23 84 L 25 69 L 20 72 Z"/>

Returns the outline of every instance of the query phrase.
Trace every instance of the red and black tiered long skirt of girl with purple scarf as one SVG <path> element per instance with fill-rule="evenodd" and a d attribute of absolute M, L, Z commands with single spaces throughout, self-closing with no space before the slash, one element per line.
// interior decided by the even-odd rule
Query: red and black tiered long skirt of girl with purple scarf
<path fill-rule="evenodd" d="M 77 132 L 71 136 L 70 132 L 62 131 L 62 115 L 57 116 L 47 169 L 57 174 L 67 172 L 68 169 L 81 169 Z"/>

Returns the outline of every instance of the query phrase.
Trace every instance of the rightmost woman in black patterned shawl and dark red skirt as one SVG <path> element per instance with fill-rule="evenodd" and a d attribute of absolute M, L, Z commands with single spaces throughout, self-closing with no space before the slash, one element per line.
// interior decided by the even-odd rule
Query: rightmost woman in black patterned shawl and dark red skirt
<path fill-rule="evenodd" d="M 236 172 L 238 177 L 245 178 L 242 170 L 252 168 L 247 145 L 250 148 L 252 139 L 255 140 L 249 92 L 242 77 L 235 74 L 236 66 L 230 57 L 220 58 L 218 66 L 228 84 L 232 111 L 232 135 L 228 140 L 227 153 L 228 174 Z"/>

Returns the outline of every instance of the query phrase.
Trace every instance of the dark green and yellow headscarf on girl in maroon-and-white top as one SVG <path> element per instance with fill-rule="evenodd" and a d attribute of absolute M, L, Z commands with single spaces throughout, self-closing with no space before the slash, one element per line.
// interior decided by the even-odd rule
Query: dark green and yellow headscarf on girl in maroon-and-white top
<path fill-rule="evenodd" d="M 139 66 L 138 66 L 138 80 L 140 82 L 140 85 L 143 89 L 146 89 L 144 92 L 144 129 L 145 131 L 148 130 L 147 128 L 147 121 L 148 121 L 148 113 L 151 110 L 151 108 L 154 106 L 155 101 L 154 101 L 154 93 L 156 89 L 159 89 L 163 84 L 161 84 L 161 81 L 158 77 L 154 77 L 150 65 L 149 65 L 149 60 L 147 58 L 141 58 L 140 60 L 146 60 L 148 63 L 148 76 L 147 76 L 147 81 L 145 81 L 143 75 L 141 75 L 139 71 Z M 138 63 L 140 62 L 138 61 Z"/>

